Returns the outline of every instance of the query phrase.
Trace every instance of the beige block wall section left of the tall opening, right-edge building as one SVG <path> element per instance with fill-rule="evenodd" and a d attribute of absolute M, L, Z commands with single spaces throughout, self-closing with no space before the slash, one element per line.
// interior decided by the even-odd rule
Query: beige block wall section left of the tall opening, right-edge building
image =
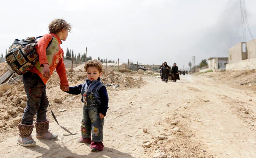
<path fill-rule="evenodd" d="M 228 50 L 228 63 L 235 63 L 242 60 L 242 43 L 238 43 Z"/>

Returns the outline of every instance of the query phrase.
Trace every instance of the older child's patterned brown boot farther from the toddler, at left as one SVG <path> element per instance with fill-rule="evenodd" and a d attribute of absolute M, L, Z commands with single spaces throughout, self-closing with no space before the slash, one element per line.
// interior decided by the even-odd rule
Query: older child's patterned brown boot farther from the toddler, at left
<path fill-rule="evenodd" d="M 34 125 L 26 125 L 20 123 L 18 125 L 20 134 L 17 139 L 17 143 L 21 146 L 36 146 L 36 142 L 33 140 L 31 133 L 33 131 Z"/>

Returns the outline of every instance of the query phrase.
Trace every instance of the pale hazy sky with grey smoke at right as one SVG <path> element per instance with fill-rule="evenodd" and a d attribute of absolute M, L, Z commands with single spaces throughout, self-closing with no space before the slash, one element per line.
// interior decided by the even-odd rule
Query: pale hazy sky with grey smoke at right
<path fill-rule="evenodd" d="M 244 42 L 239 0 L 0 0 L 0 53 L 14 39 L 48 33 L 53 19 L 72 24 L 61 44 L 93 59 L 188 68 L 210 57 L 228 57 Z M 256 36 L 255 0 L 245 0 L 252 35 Z M 248 31 L 246 41 L 252 40 Z"/>

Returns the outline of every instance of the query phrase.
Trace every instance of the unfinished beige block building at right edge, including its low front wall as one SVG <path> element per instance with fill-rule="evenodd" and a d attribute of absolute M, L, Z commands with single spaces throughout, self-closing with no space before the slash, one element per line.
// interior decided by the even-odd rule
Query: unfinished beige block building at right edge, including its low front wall
<path fill-rule="evenodd" d="M 256 39 L 229 48 L 226 67 L 227 70 L 256 69 Z"/>

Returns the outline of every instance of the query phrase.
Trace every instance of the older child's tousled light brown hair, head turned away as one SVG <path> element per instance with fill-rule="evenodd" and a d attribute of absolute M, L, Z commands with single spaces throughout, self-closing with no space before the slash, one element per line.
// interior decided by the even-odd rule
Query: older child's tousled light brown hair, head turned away
<path fill-rule="evenodd" d="M 63 19 L 54 19 L 49 24 L 48 28 L 50 33 L 56 34 L 60 32 L 63 28 L 68 29 L 68 31 L 70 32 L 72 27 Z"/>

